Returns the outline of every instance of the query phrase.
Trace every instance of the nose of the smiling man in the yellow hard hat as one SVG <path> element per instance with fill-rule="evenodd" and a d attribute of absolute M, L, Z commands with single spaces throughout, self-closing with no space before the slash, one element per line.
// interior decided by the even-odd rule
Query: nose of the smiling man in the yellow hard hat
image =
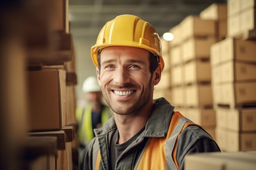
<path fill-rule="evenodd" d="M 130 73 L 125 68 L 117 69 L 117 72 L 114 75 L 114 82 L 119 86 L 122 86 L 130 82 Z"/>

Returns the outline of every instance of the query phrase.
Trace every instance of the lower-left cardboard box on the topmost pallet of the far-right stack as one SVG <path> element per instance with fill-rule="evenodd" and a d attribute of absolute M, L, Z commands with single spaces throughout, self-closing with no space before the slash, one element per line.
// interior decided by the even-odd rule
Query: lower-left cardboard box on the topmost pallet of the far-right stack
<path fill-rule="evenodd" d="M 240 14 L 232 15 L 227 18 L 227 36 L 236 37 L 241 34 L 242 26 Z"/>

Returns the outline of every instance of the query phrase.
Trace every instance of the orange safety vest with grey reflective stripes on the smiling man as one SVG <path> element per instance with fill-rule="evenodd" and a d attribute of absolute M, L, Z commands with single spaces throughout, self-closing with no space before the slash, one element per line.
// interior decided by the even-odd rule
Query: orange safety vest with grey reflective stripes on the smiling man
<path fill-rule="evenodd" d="M 166 137 L 148 139 L 136 163 L 135 170 L 179 170 L 180 167 L 176 158 L 177 141 L 182 130 L 189 125 L 199 126 L 183 117 L 179 112 L 174 112 Z M 96 163 L 96 165 L 93 165 L 95 170 L 99 170 L 98 163 L 100 163 L 101 159 L 99 150 L 97 152 L 97 157 L 95 155 L 93 158 Z"/>

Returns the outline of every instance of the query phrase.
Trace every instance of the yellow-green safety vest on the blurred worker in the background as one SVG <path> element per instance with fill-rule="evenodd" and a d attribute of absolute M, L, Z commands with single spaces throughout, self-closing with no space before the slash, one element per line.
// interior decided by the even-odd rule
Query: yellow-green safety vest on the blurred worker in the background
<path fill-rule="evenodd" d="M 91 141 L 94 137 L 92 129 L 92 106 L 86 107 L 84 111 L 82 132 L 85 135 L 86 141 Z M 101 124 L 103 125 L 109 119 L 108 108 L 104 107 L 101 113 Z"/>

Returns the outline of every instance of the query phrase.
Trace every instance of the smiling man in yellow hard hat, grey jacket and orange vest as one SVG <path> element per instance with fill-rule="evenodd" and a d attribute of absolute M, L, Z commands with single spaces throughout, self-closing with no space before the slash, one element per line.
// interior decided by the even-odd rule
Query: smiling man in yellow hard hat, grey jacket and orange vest
<path fill-rule="evenodd" d="M 85 170 L 183 170 L 186 154 L 220 151 L 166 99 L 153 100 L 164 69 L 161 51 L 153 26 L 137 16 L 117 16 L 101 29 L 92 60 L 114 115 L 94 130 Z"/>

